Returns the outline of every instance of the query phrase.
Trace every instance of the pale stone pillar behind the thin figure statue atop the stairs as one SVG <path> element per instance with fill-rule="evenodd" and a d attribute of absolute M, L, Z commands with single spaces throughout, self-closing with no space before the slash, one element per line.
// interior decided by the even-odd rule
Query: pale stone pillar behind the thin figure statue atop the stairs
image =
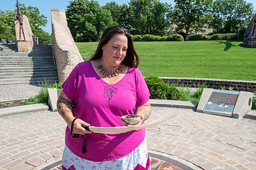
<path fill-rule="evenodd" d="M 28 17 L 26 15 L 22 15 L 22 16 L 23 16 L 23 30 L 24 30 L 26 41 L 24 41 L 25 39 L 24 39 L 22 30 L 20 32 L 21 36 L 19 39 L 20 24 L 18 20 L 15 20 L 14 25 L 15 25 L 16 46 L 17 46 L 18 52 L 31 52 L 36 45 L 34 43 L 35 38 L 30 28 Z"/>

